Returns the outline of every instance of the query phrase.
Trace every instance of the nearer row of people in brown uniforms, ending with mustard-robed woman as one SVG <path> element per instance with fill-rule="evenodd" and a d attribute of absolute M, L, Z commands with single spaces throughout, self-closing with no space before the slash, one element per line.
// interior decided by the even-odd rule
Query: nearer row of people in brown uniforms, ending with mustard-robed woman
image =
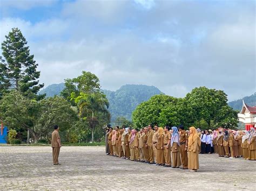
<path fill-rule="evenodd" d="M 118 126 L 107 132 L 109 155 L 119 158 L 140 161 L 158 166 L 199 169 L 200 138 L 194 127 L 190 128 L 190 136 L 184 126 L 148 125 L 140 129 L 122 128 Z M 181 167 L 182 164 L 182 167 Z"/>

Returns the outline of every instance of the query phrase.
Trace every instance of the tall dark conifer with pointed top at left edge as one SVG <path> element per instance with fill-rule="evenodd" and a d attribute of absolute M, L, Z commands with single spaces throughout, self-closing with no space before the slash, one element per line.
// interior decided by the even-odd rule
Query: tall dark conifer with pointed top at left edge
<path fill-rule="evenodd" d="M 36 94 L 44 84 L 38 84 L 38 64 L 33 60 L 34 56 L 30 55 L 29 46 L 26 46 L 28 42 L 21 30 L 13 28 L 5 38 L 2 43 L 3 58 L 0 64 L 1 93 L 16 89 L 24 96 L 41 99 L 44 95 Z"/>

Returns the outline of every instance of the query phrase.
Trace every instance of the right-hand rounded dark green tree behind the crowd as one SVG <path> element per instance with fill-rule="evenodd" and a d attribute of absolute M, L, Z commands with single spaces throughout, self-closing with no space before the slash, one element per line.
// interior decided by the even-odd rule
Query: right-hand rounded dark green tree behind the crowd
<path fill-rule="evenodd" d="M 208 89 L 206 87 L 194 88 L 186 95 L 197 121 L 204 119 L 211 126 L 221 107 L 227 105 L 227 95 L 222 90 Z"/>

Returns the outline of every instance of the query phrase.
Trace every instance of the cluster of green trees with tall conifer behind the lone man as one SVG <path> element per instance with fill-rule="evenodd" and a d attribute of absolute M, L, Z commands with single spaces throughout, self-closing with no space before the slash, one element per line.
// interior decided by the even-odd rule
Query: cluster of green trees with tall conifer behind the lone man
<path fill-rule="evenodd" d="M 104 137 L 102 126 L 110 121 L 109 102 L 100 91 L 95 74 L 82 72 L 65 80 L 61 96 L 38 95 L 38 63 L 30 54 L 22 32 L 13 28 L 2 43 L 0 57 L 0 119 L 8 125 L 10 138 L 32 137 L 49 142 L 52 126 L 58 124 L 66 142 L 97 141 Z"/>

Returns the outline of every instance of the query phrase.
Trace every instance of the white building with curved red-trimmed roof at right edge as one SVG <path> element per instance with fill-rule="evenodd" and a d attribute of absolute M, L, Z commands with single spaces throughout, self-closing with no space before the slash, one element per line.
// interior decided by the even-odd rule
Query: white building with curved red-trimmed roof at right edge
<path fill-rule="evenodd" d="M 256 105 L 251 107 L 242 100 L 242 109 L 238 114 L 239 122 L 245 124 L 245 130 L 256 128 Z"/>

